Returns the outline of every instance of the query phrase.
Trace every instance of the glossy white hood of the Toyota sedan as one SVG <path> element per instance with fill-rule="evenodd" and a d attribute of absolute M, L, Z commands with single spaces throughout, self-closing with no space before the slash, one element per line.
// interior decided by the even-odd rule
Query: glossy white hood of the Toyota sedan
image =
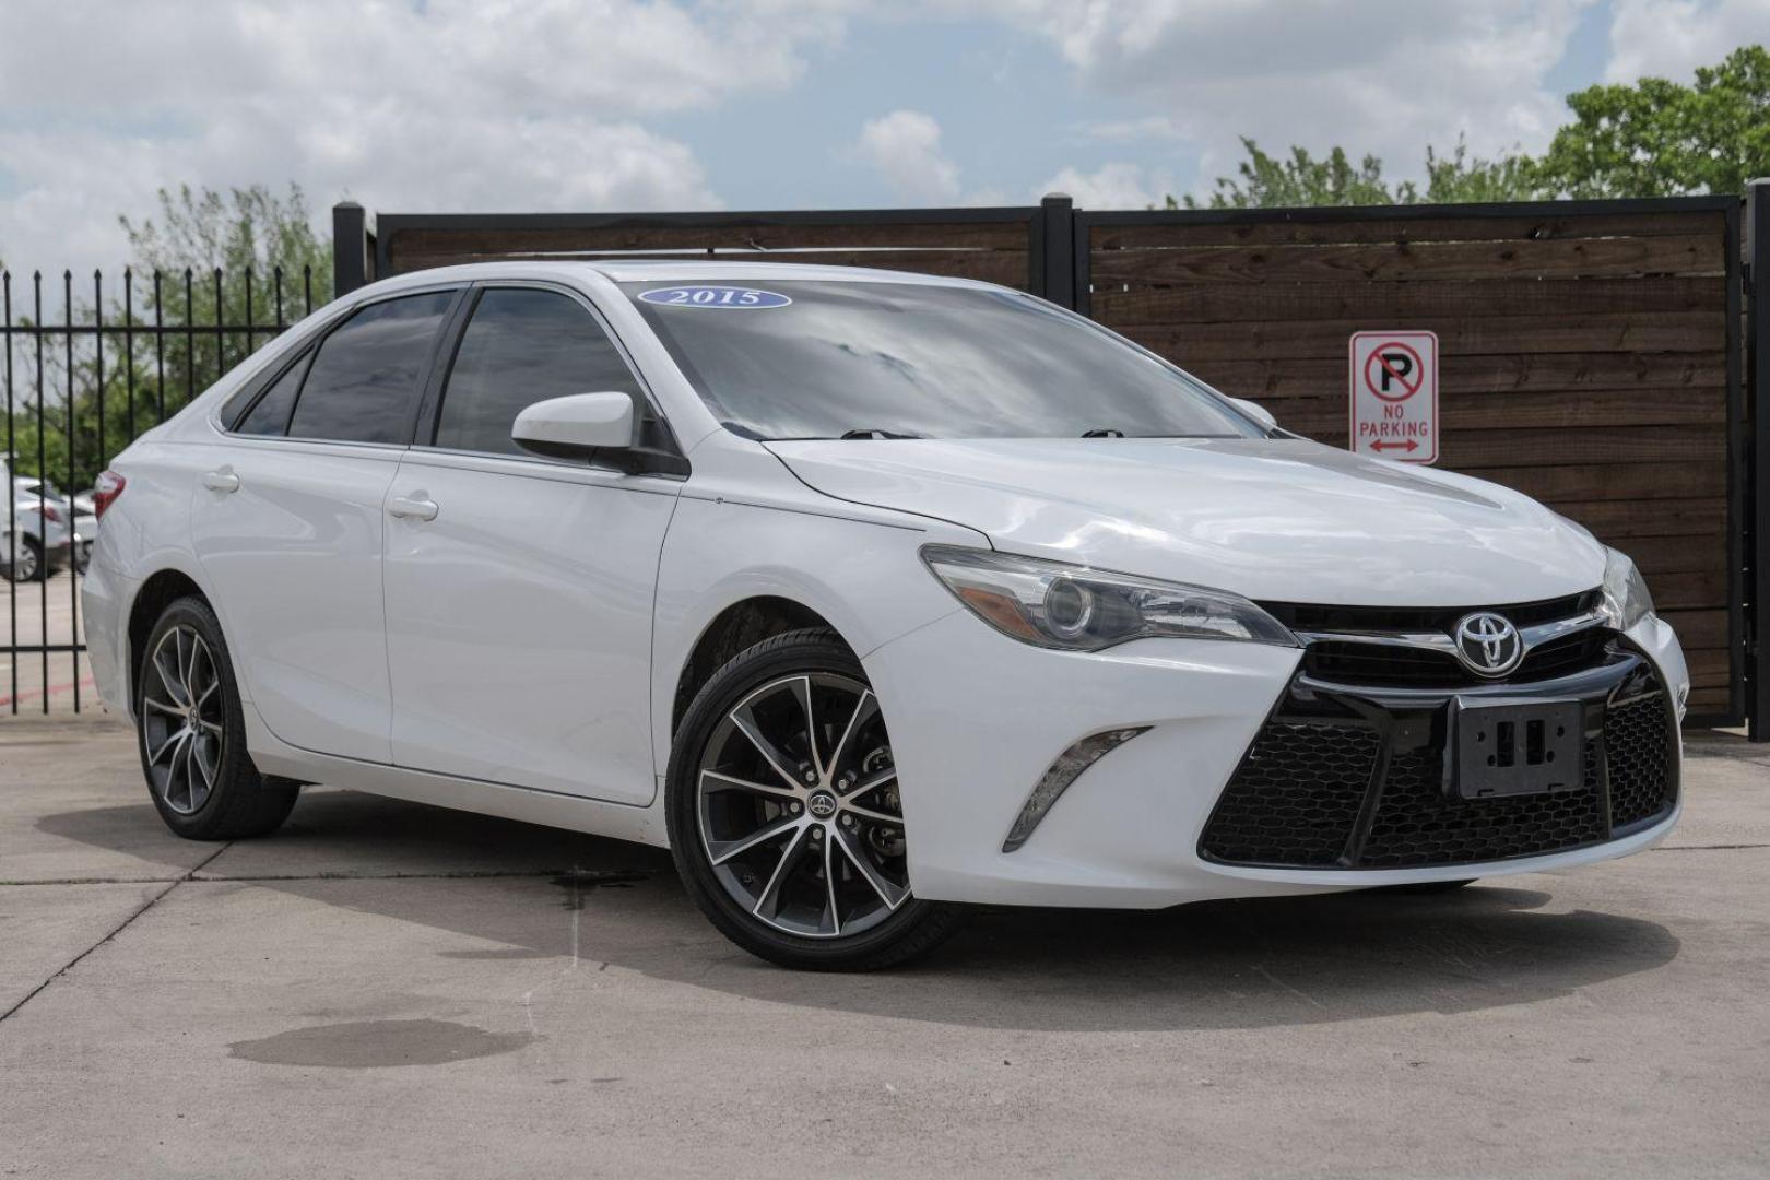
<path fill-rule="evenodd" d="M 1005 552 L 1262 601 L 1503 605 L 1604 579 L 1604 547 L 1526 495 L 1301 439 L 768 448 L 825 495 L 950 520 Z"/>

